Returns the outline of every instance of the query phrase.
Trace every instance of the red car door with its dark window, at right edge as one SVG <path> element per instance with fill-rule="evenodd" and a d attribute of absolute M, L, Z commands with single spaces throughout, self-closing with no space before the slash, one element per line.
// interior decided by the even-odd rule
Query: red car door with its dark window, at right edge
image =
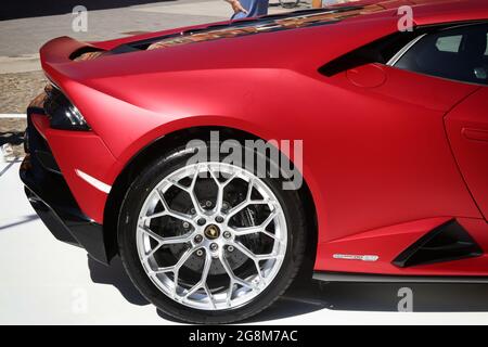
<path fill-rule="evenodd" d="M 464 181 L 487 218 L 488 24 L 459 25 L 425 35 L 394 66 L 477 87 L 450 110 L 445 126 Z"/>

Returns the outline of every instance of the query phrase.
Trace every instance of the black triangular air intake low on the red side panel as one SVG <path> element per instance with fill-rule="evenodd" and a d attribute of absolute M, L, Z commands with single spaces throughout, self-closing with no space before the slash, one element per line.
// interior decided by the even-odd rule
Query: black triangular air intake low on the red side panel
<path fill-rule="evenodd" d="M 483 249 L 455 220 L 450 220 L 422 236 L 393 264 L 399 268 L 473 258 Z"/>

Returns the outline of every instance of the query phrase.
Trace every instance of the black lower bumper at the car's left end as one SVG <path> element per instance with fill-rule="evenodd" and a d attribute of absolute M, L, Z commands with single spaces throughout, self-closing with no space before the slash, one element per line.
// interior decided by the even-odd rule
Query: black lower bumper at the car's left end
<path fill-rule="evenodd" d="M 107 264 L 103 226 L 79 208 L 46 140 L 27 115 L 26 157 L 21 165 L 25 193 L 40 219 L 60 241 L 84 247 Z"/>

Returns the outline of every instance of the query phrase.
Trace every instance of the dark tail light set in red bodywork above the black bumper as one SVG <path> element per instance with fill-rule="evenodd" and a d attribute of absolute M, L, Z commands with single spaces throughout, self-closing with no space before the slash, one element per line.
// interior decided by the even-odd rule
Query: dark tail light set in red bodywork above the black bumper
<path fill-rule="evenodd" d="M 53 129 L 89 131 L 90 126 L 76 106 L 53 85 L 46 88 L 44 112 Z"/>

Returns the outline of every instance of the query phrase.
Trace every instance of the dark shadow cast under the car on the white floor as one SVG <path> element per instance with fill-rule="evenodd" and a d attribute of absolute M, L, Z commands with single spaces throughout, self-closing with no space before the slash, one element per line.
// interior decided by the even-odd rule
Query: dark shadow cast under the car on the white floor
<path fill-rule="evenodd" d="M 149 305 L 126 274 L 119 258 L 106 267 L 89 257 L 91 279 L 114 285 L 133 305 Z M 395 312 L 398 291 L 413 291 L 413 310 L 418 312 L 488 311 L 488 284 L 401 284 L 401 283 L 319 283 L 294 285 L 281 299 L 247 322 L 267 322 L 322 309 L 344 311 Z M 175 321 L 158 310 L 158 314 Z"/>

